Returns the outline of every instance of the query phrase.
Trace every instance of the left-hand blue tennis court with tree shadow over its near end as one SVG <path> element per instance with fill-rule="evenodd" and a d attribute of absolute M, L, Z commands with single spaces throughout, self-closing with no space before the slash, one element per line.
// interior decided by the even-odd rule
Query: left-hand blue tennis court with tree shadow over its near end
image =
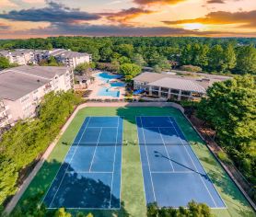
<path fill-rule="evenodd" d="M 120 209 L 122 119 L 88 117 L 43 202 L 48 209 Z"/>

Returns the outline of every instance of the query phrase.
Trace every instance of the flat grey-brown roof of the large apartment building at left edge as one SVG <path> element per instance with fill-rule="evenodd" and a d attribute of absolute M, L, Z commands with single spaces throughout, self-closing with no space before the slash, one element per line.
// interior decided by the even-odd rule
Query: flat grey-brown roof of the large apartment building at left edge
<path fill-rule="evenodd" d="M 17 100 L 49 83 L 68 68 L 56 66 L 19 66 L 0 72 L 0 98 Z"/>

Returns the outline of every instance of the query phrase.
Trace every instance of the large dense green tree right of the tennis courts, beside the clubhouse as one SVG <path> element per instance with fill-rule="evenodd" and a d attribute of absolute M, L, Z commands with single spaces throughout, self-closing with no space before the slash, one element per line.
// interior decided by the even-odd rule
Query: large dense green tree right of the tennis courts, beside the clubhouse
<path fill-rule="evenodd" d="M 197 115 L 212 125 L 217 139 L 242 169 L 245 176 L 256 182 L 256 88 L 255 77 L 239 75 L 232 80 L 215 83 L 207 90 Z"/>

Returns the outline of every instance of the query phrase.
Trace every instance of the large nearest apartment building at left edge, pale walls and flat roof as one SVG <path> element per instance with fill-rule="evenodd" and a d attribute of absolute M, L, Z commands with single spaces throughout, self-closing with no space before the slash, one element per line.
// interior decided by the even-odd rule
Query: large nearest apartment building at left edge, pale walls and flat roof
<path fill-rule="evenodd" d="M 45 94 L 71 88 L 74 74 L 67 67 L 24 65 L 0 72 L 0 126 L 34 117 Z"/>

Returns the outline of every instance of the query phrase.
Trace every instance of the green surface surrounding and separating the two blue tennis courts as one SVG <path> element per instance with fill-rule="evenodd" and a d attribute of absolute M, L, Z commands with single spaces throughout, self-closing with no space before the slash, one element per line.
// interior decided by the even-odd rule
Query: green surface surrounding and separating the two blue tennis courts
<path fill-rule="evenodd" d="M 216 216 L 255 216 L 247 200 L 227 176 L 223 168 L 216 162 L 190 123 L 177 109 L 172 108 L 86 108 L 78 111 L 75 119 L 64 132 L 59 143 L 55 146 L 49 159 L 41 167 L 37 176 L 32 180 L 18 205 L 28 202 L 26 199 L 33 195 L 43 195 L 52 183 L 64 156 L 87 116 L 121 116 L 123 117 L 123 141 L 128 145 L 122 146 L 122 210 L 121 211 L 90 211 L 94 216 L 146 216 L 145 193 L 140 162 L 139 146 L 137 145 L 136 116 L 171 116 L 174 117 L 186 138 L 192 145 L 209 177 L 227 204 L 227 209 L 215 209 Z M 67 142 L 68 145 L 62 142 Z M 135 144 L 134 144 L 135 143 Z"/>

